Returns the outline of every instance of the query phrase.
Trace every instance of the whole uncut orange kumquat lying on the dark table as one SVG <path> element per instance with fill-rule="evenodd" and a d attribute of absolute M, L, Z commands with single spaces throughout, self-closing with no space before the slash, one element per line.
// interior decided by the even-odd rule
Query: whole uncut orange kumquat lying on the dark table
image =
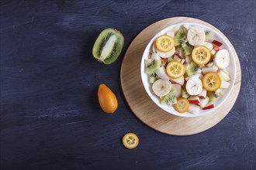
<path fill-rule="evenodd" d="M 115 94 L 105 84 L 99 85 L 98 90 L 99 105 L 102 110 L 108 114 L 112 114 L 118 107 L 118 102 Z"/>

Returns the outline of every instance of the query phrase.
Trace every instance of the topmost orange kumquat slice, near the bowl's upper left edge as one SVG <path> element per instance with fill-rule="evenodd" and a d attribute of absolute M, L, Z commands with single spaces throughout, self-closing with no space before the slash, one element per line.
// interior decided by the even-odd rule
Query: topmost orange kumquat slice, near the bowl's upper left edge
<path fill-rule="evenodd" d="M 171 36 L 159 36 L 156 40 L 156 46 L 159 51 L 166 53 L 175 47 L 175 39 Z"/>

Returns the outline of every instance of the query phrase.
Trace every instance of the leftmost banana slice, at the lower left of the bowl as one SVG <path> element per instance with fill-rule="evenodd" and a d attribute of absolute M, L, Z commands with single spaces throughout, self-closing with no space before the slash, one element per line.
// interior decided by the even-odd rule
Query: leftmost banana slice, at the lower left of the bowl
<path fill-rule="evenodd" d="M 159 79 L 153 83 L 152 90 L 157 97 L 164 97 L 171 91 L 171 82 L 169 80 Z"/>

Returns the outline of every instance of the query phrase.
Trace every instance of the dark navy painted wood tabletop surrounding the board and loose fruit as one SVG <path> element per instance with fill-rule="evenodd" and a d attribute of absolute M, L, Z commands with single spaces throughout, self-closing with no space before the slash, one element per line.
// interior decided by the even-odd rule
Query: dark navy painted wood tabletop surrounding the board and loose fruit
<path fill-rule="evenodd" d="M 1 1 L 1 169 L 255 169 L 255 1 Z M 230 114 L 201 134 L 148 128 L 124 100 L 119 70 L 137 34 L 160 19 L 202 19 L 233 43 L 242 86 Z M 92 56 L 106 27 L 123 32 L 110 66 Z M 104 114 L 106 83 L 119 100 Z M 147 108 L 145 108 L 147 109 Z M 123 134 L 140 145 L 127 150 Z"/>

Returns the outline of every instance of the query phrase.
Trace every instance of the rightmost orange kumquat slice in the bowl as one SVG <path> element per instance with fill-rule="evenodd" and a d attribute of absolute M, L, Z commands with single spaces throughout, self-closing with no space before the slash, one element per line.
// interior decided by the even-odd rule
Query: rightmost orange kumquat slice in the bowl
<path fill-rule="evenodd" d="M 216 91 L 220 88 L 220 85 L 221 79 L 218 73 L 206 73 L 206 75 L 202 77 L 202 86 L 207 91 Z"/>

